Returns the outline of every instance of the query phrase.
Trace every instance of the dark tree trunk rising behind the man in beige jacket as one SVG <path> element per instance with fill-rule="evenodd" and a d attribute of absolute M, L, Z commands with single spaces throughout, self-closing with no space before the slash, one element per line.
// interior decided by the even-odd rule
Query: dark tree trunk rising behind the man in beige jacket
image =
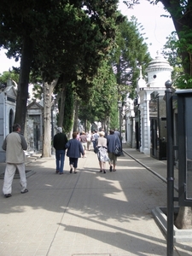
<path fill-rule="evenodd" d="M 20 60 L 20 80 L 17 90 L 15 123 L 20 124 L 21 133 L 25 131 L 26 102 L 28 98 L 29 73 L 32 64 L 32 39 L 26 36 Z"/>

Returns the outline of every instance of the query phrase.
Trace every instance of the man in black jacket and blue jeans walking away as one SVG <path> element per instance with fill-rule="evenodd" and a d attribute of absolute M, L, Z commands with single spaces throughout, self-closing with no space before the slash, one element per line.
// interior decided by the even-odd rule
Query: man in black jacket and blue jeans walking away
<path fill-rule="evenodd" d="M 57 128 L 57 133 L 55 134 L 53 146 L 55 148 L 55 158 L 56 158 L 56 173 L 63 174 L 63 166 L 66 154 L 66 144 L 67 136 L 62 133 L 62 128 Z"/>

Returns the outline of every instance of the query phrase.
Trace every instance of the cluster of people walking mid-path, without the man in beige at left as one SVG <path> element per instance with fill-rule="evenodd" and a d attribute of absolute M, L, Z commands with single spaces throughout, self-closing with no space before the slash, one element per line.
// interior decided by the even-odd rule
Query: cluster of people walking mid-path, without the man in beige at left
<path fill-rule="evenodd" d="M 73 132 L 73 138 L 67 141 L 67 137 L 58 127 L 57 134 L 54 137 L 54 148 L 56 158 L 56 173 L 63 174 L 63 164 L 65 160 L 65 150 L 69 157 L 70 173 L 77 173 L 78 160 L 80 157 L 86 157 L 87 143 L 93 143 L 93 148 L 98 148 L 97 157 L 99 160 L 100 172 L 106 173 L 106 163 L 109 163 L 109 171 L 116 171 L 117 155 L 114 149 L 122 150 L 119 134 L 110 130 L 109 134 L 104 131 L 93 131 L 92 135 L 84 131 L 81 135 Z M 62 145 L 62 146 L 61 146 Z M 61 148 L 62 147 L 62 148 Z M 90 149 L 89 149 L 90 150 Z"/>

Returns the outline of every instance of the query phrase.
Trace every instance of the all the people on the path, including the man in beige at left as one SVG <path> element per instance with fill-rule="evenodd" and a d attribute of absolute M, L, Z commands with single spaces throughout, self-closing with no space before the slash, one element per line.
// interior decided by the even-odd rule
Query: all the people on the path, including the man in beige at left
<path fill-rule="evenodd" d="M 90 150 L 90 144 L 93 148 L 98 148 L 97 157 L 99 160 L 100 172 L 106 173 L 106 163 L 109 163 L 110 172 L 116 171 L 117 156 L 114 149 L 122 150 L 118 134 L 114 134 L 113 130 L 107 135 L 104 131 L 94 131 L 92 135 L 82 132 L 73 132 L 73 137 L 67 140 L 67 136 L 62 132 L 62 128 L 58 127 L 53 139 L 53 147 L 55 148 L 55 173 L 63 174 L 65 154 L 69 157 L 70 173 L 77 173 L 78 160 L 80 157 L 86 157 L 86 150 Z M 12 196 L 12 183 L 15 171 L 20 173 L 20 193 L 28 192 L 26 189 L 26 172 L 25 172 L 25 153 L 27 143 L 25 137 L 20 134 L 20 125 L 13 125 L 11 132 L 3 141 L 3 150 L 6 151 L 6 168 L 4 172 L 3 195 L 6 198 Z"/>

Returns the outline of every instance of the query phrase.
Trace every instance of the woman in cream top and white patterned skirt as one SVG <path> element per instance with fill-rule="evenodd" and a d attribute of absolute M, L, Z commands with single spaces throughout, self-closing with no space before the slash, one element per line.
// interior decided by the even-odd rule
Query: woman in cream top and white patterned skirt
<path fill-rule="evenodd" d="M 100 131 L 97 140 L 97 147 L 99 148 L 97 157 L 99 160 L 99 166 L 100 166 L 100 172 L 106 173 L 105 172 L 105 163 L 109 160 L 108 159 L 108 147 L 107 147 L 107 139 L 104 137 L 105 132 Z"/>

